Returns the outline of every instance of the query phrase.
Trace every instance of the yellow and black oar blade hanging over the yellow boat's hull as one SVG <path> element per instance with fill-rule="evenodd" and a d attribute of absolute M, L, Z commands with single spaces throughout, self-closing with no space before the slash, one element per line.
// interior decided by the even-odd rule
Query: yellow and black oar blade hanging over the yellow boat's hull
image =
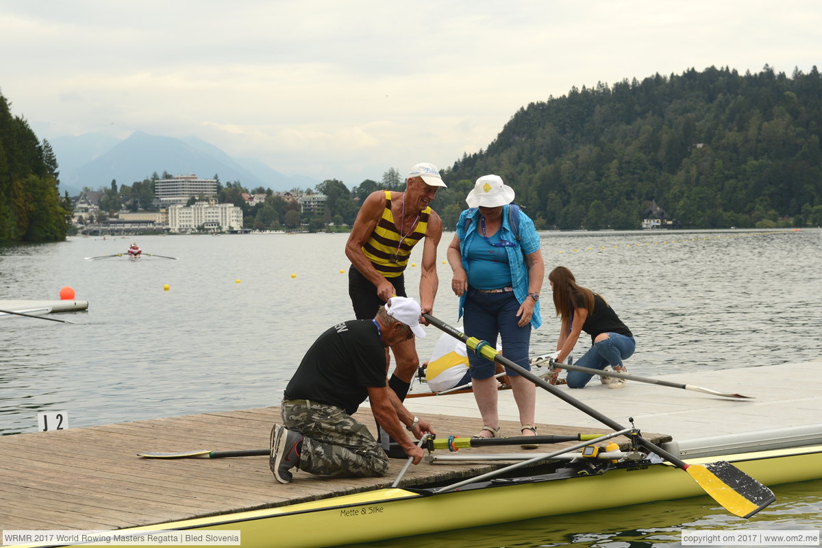
<path fill-rule="evenodd" d="M 713 500 L 740 518 L 750 518 L 776 500 L 774 491 L 724 460 L 689 464 L 685 471 Z"/>

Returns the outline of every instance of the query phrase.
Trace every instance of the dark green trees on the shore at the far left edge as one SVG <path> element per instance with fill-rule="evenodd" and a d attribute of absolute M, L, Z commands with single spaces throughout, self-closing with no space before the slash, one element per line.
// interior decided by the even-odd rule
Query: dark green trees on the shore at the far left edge
<path fill-rule="evenodd" d="M 71 213 L 58 184 L 51 145 L 0 94 L 0 242 L 65 240 Z"/>

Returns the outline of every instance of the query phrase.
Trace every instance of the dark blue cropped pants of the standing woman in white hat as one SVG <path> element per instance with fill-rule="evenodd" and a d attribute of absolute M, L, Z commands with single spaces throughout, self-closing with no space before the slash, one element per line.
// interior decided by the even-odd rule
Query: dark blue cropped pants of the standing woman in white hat
<path fill-rule="evenodd" d="M 502 352 L 510 361 L 531 371 L 529 360 L 529 343 L 531 341 L 531 324 L 524 327 L 517 325 L 520 319 L 516 312 L 520 302 L 514 292 L 481 293 L 469 288 L 468 297 L 463 307 L 463 329 L 469 337 L 487 341 L 496 348 L 496 336 L 502 338 Z M 494 376 L 494 362 L 477 356 L 469 348 L 468 360 L 471 364 L 469 373 L 473 379 L 488 379 Z M 508 375 L 517 375 L 506 367 Z"/>

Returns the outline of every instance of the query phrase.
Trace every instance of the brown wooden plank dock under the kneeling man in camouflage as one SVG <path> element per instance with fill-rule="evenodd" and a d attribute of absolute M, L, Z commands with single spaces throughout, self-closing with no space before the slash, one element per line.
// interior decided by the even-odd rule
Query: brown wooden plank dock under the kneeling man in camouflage
<path fill-rule="evenodd" d="M 467 417 L 420 416 L 432 423 L 440 437 L 464 437 L 476 430 L 476 420 Z M 376 431 L 370 410 L 363 408 L 355 417 Z M 296 472 L 293 482 L 281 484 L 271 474 L 267 457 L 136 456 L 144 451 L 265 449 L 275 422 L 279 422 L 279 408 L 270 407 L 0 436 L 0 529 L 118 529 L 265 509 L 390 486 L 405 464 L 405 459 L 392 459 L 385 477 L 316 477 Z M 516 431 L 519 425 L 502 421 L 502 426 Z M 574 426 L 538 426 L 540 434 L 580 432 Z M 654 442 L 670 440 L 667 435 L 644 436 Z M 627 440 L 618 438 L 617 443 Z M 528 453 L 570 444 L 545 445 Z M 463 449 L 461 454 L 472 450 Z M 482 453 L 511 451 L 510 446 L 481 449 Z M 423 462 L 409 467 L 401 485 L 459 481 L 502 466 L 499 462 Z"/>

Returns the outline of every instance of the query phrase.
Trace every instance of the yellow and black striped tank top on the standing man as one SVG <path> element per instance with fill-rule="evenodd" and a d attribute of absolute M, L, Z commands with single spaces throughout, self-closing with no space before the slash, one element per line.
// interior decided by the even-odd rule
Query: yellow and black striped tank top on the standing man
<path fill-rule="evenodd" d="M 423 239 L 428 228 L 428 217 L 431 208 L 427 207 L 419 214 L 417 226 L 413 233 L 403 239 L 397 231 L 394 215 L 391 214 L 391 192 L 386 192 L 386 208 L 382 210 L 382 217 L 376 228 L 365 242 L 363 253 L 371 260 L 377 272 L 386 278 L 396 278 L 408 265 L 413 246 Z M 409 227 L 410 228 L 410 227 Z M 402 240 L 402 242 L 400 242 Z"/>

